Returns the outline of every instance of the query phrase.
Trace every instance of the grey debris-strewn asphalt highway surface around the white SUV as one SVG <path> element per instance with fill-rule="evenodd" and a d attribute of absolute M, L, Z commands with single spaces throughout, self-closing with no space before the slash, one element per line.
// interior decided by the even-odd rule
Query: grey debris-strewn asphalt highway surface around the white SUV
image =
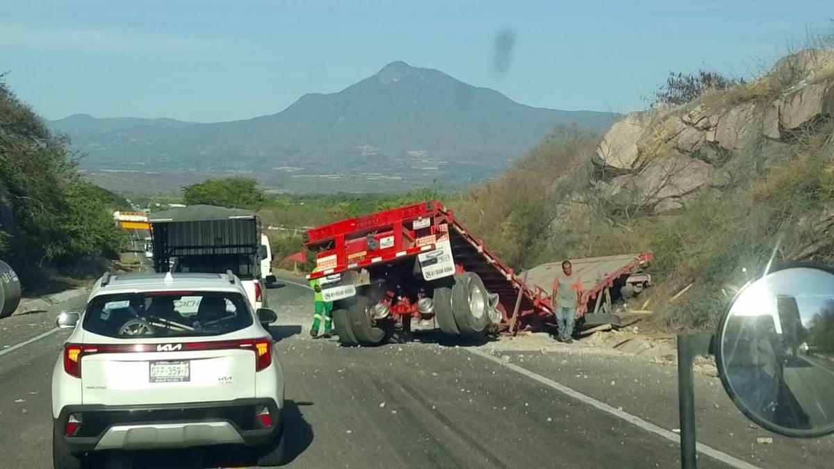
<path fill-rule="evenodd" d="M 440 345 L 432 335 L 404 345 L 344 348 L 335 340 L 309 338 L 309 290 L 287 283 L 268 295 L 279 314 L 273 332 L 288 380 L 289 466 L 680 464 L 676 442 L 652 431 L 672 434 L 677 426 L 670 366 L 600 355 L 581 345 L 546 353 L 523 346 L 503 350 L 502 343 L 474 349 Z M 78 301 L 0 320 L 3 467 L 51 466 L 50 375 L 68 333 L 61 330 L 3 350 L 48 332 L 58 310 L 78 308 Z M 749 426 L 714 378 L 697 380 L 699 441 L 723 458 L 702 453 L 701 467 L 738 467 L 741 461 L 761 467 L 828 466 L 834 456 L 831 438 L 773 436 L 771 444 L 756 443 L 756 437 L 772 435 Z M 95 461 L 101 467 L 228 467 L 248 462 L 243 451 L 234 449 L 114 453 Z"/>

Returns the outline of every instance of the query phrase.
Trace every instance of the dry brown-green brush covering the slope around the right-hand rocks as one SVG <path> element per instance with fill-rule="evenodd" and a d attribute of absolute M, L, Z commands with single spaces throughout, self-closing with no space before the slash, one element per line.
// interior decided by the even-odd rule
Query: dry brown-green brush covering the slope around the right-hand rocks
<path fill-rule="evenodd" d="M 814 66 L 821 69 L 816 79 L 828 79 L 824 64 Z M 766 109 L 796 86 L 798 68 L 787 60 L 750 83 L 715 73 L 672 73 L 656 103 L 681 115 L 696 106 L 716 113 L 740 104 Z M 611 199 L 600 189 L 617 175 L 591 163 L 600 135 L 575 129 L 556 134 L 453 204 L 460 219 L 517 270 L 651 251 L 655 287 L 631 307 L 641 309 L 648 300 L 657 328 L 698 330 L 716 324 L 732 295 L 761 275 L 774 250 L 776 265 L 834 262 L 831 114 L 783 134 L 782 141 L 756 133 L 744 148 L 721 154 L 726 161 L 711 162 L 726 170 L 726 181 L 705 185 L 687 194 L 685 207 L 662 213 L 636 199 Z M 689 285 L 686 295 L 670 301 Z"/>

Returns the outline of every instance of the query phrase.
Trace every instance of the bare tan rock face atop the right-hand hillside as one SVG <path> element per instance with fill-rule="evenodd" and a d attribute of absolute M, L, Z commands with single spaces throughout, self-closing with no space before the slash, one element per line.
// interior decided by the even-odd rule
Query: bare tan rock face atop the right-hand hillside
<path fill-rule="evenodd" d="M 792 144 L 831 119 L 834 52 L 806 50 L 751 83 L 626 115 L 600 140 L 591 184 L 626 208 L 685 208 L 704 190 L 779 162 Z M 826 148 L 834 151 L 834 144 Z"/>

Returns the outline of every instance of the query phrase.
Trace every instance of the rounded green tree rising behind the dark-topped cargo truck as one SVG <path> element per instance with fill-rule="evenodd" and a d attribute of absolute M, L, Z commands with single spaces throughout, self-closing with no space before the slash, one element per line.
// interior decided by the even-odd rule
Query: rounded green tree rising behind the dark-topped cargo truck
<path fill-rule="evenodd" d="M 183 188 L 185 204 L 219 205 L 230 209 L 260 209 L 266 202 L 258 181 L 248 178 L 208 179 Z"/>

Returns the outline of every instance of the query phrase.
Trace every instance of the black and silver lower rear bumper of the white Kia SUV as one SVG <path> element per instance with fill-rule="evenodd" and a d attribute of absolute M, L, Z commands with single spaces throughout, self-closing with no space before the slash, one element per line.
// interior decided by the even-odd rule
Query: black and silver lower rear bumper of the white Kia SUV
<path fill-rule="evenodd" d="M 266 406 L 272 425 L 255 416 Z M 66 436 L 70 416 L 81 421 Z M 272 399 L 237 399 L 153 406 L 67 406 L 54 421 L 54 437 L 73 453 L 239 444 L 259 446 L 279 435 L 281 409 Z"/>

